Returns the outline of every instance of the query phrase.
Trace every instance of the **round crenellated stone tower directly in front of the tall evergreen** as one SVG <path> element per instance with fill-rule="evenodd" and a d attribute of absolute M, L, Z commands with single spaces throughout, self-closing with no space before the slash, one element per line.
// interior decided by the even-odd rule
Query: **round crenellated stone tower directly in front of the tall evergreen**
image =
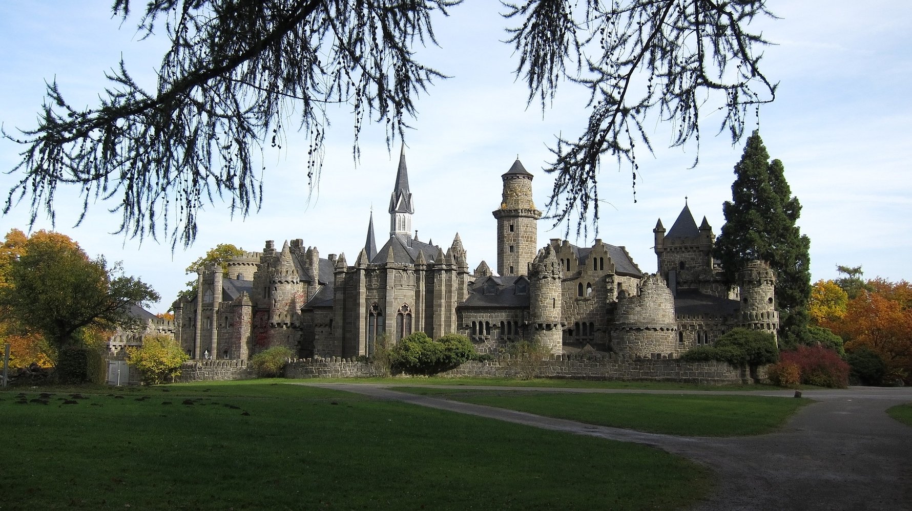
<path fill-rule="evenodd" d="M 741 322 L 751 330 L 771 332 L 779 329 L 776 312 L 776 275 L 765 261 L 750 261 L 738 272 L 741 284 Z"/>

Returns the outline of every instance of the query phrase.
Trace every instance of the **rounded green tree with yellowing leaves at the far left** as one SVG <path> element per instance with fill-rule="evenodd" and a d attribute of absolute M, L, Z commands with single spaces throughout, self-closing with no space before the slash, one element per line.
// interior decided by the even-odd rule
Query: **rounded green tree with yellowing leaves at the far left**
<path fill-rule="evenodd" d="M 59 349 L 98 337 L 97 329 L 135 323 L 132 308 L 159 299 L 142 281 L 122 275 L 119 264 L 88 259 L 78 244 L 39 231 L 23 244 L 0 287 L 0 310 L 22 333 L 39 333 Z"/>

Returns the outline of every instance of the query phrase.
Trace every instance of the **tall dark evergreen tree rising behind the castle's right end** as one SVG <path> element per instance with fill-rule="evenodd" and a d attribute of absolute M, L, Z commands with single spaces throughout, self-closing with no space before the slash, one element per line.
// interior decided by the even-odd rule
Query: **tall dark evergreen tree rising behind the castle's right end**
<path fill-rule="evenodd" d="M 722 205 L 722 212 L 725 225 L 716 240 L 715 255 L 725 268 L 726 280 L 736 283 L 738 270 L 752 259 L 770 263 L 777 277 L 780 339 L 787 345 L 807 341 L 811 240 L 795 225 L 801 203 L 785 180 L 782 161 L 770 161 L 757 131 L 735 165 L 731 201 Z"/>

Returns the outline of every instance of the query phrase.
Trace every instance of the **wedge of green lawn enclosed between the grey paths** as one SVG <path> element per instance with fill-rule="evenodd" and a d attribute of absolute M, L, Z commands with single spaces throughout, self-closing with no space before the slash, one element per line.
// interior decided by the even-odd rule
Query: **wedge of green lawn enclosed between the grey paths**
<path fill-rule="evenodd" d="M 784 424 L 804 404 L 810 403 L 808 399 L 759 395 L 546 393 L 427 387 L 396 390 L 587 424 L 685 436 L 769 433 Z"/>

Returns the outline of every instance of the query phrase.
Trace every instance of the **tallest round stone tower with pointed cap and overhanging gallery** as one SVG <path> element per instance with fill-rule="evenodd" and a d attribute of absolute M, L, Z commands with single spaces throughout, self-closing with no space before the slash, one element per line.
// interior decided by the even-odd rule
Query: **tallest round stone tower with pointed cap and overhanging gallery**
<path fill-rule="evenodd" d="M 538 243 L 538 219 L 532 199 L 532 174 L 523 168 L 519 158 L 503 176 L 503 199 L 497 219 L 497 272 L 502 276 L 525 275 L 535 258 Z M 559 291 L 559 290 L 558 290 Z"/>

